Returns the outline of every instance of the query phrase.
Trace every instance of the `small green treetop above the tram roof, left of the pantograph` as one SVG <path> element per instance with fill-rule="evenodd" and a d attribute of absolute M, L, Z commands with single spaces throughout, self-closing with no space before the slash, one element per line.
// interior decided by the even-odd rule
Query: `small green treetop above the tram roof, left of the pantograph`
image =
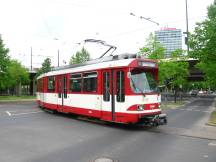
<path fill-rule="evenodd" d="M 81 51 L 77 51 L 70 59 L 70 64 L 79 64 L 90 60 L 89 52 L 83 47 Z"/>

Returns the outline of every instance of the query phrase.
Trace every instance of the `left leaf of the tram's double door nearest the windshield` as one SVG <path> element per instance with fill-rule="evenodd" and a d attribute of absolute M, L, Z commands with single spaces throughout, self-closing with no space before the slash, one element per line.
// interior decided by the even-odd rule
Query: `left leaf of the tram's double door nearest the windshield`
<path fill-rule="evenodd" d="M 102 72 L 102 119 L 115 121 L 114 70 Z"/>

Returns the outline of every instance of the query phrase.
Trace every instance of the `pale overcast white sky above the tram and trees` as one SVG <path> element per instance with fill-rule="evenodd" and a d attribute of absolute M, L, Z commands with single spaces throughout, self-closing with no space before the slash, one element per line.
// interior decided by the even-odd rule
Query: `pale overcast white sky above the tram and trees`
<path fill-rule="evenodd" d="M 213 0 L 187 1 L 192 32 L 195 23 L 206 18 Z M 79 45 L 85 39 L 115 45 L 115 54 L 136 53 L 150 32 L 164 27 L 186 31 L 185 0 L 0 0 L 0 4 L 1 37 L 11 58 L 26 67 L 31 65 L 31 48 L 33 67 L 40 67 L 47 57 L 57 66 L 58 51 L 64 65 L 82 46 L 92 58 L 107 49 L 93 43 Z"/>

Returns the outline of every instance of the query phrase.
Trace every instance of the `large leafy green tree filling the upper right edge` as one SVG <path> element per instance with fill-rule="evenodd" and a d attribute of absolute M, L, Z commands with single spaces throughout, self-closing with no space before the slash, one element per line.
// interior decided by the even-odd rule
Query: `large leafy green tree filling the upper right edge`
<path fill-rule="evenodd" d="M 205 73 L 207 83 L 216 88 L 216 1 L 208 7 L 207 18 L 196 24 L 190 35 L 190 56 L 199 59 L 197 65 Z"/>

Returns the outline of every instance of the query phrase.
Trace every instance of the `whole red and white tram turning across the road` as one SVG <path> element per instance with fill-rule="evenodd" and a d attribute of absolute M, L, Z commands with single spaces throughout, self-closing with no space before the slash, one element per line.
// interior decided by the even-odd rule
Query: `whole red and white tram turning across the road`
<path fill-rule="evenodd" d="M 38 105 L 104 121 L 166 124 L 157 89 L 158 66 L 124 54 L 62 67 L 37 78 Z"/>

